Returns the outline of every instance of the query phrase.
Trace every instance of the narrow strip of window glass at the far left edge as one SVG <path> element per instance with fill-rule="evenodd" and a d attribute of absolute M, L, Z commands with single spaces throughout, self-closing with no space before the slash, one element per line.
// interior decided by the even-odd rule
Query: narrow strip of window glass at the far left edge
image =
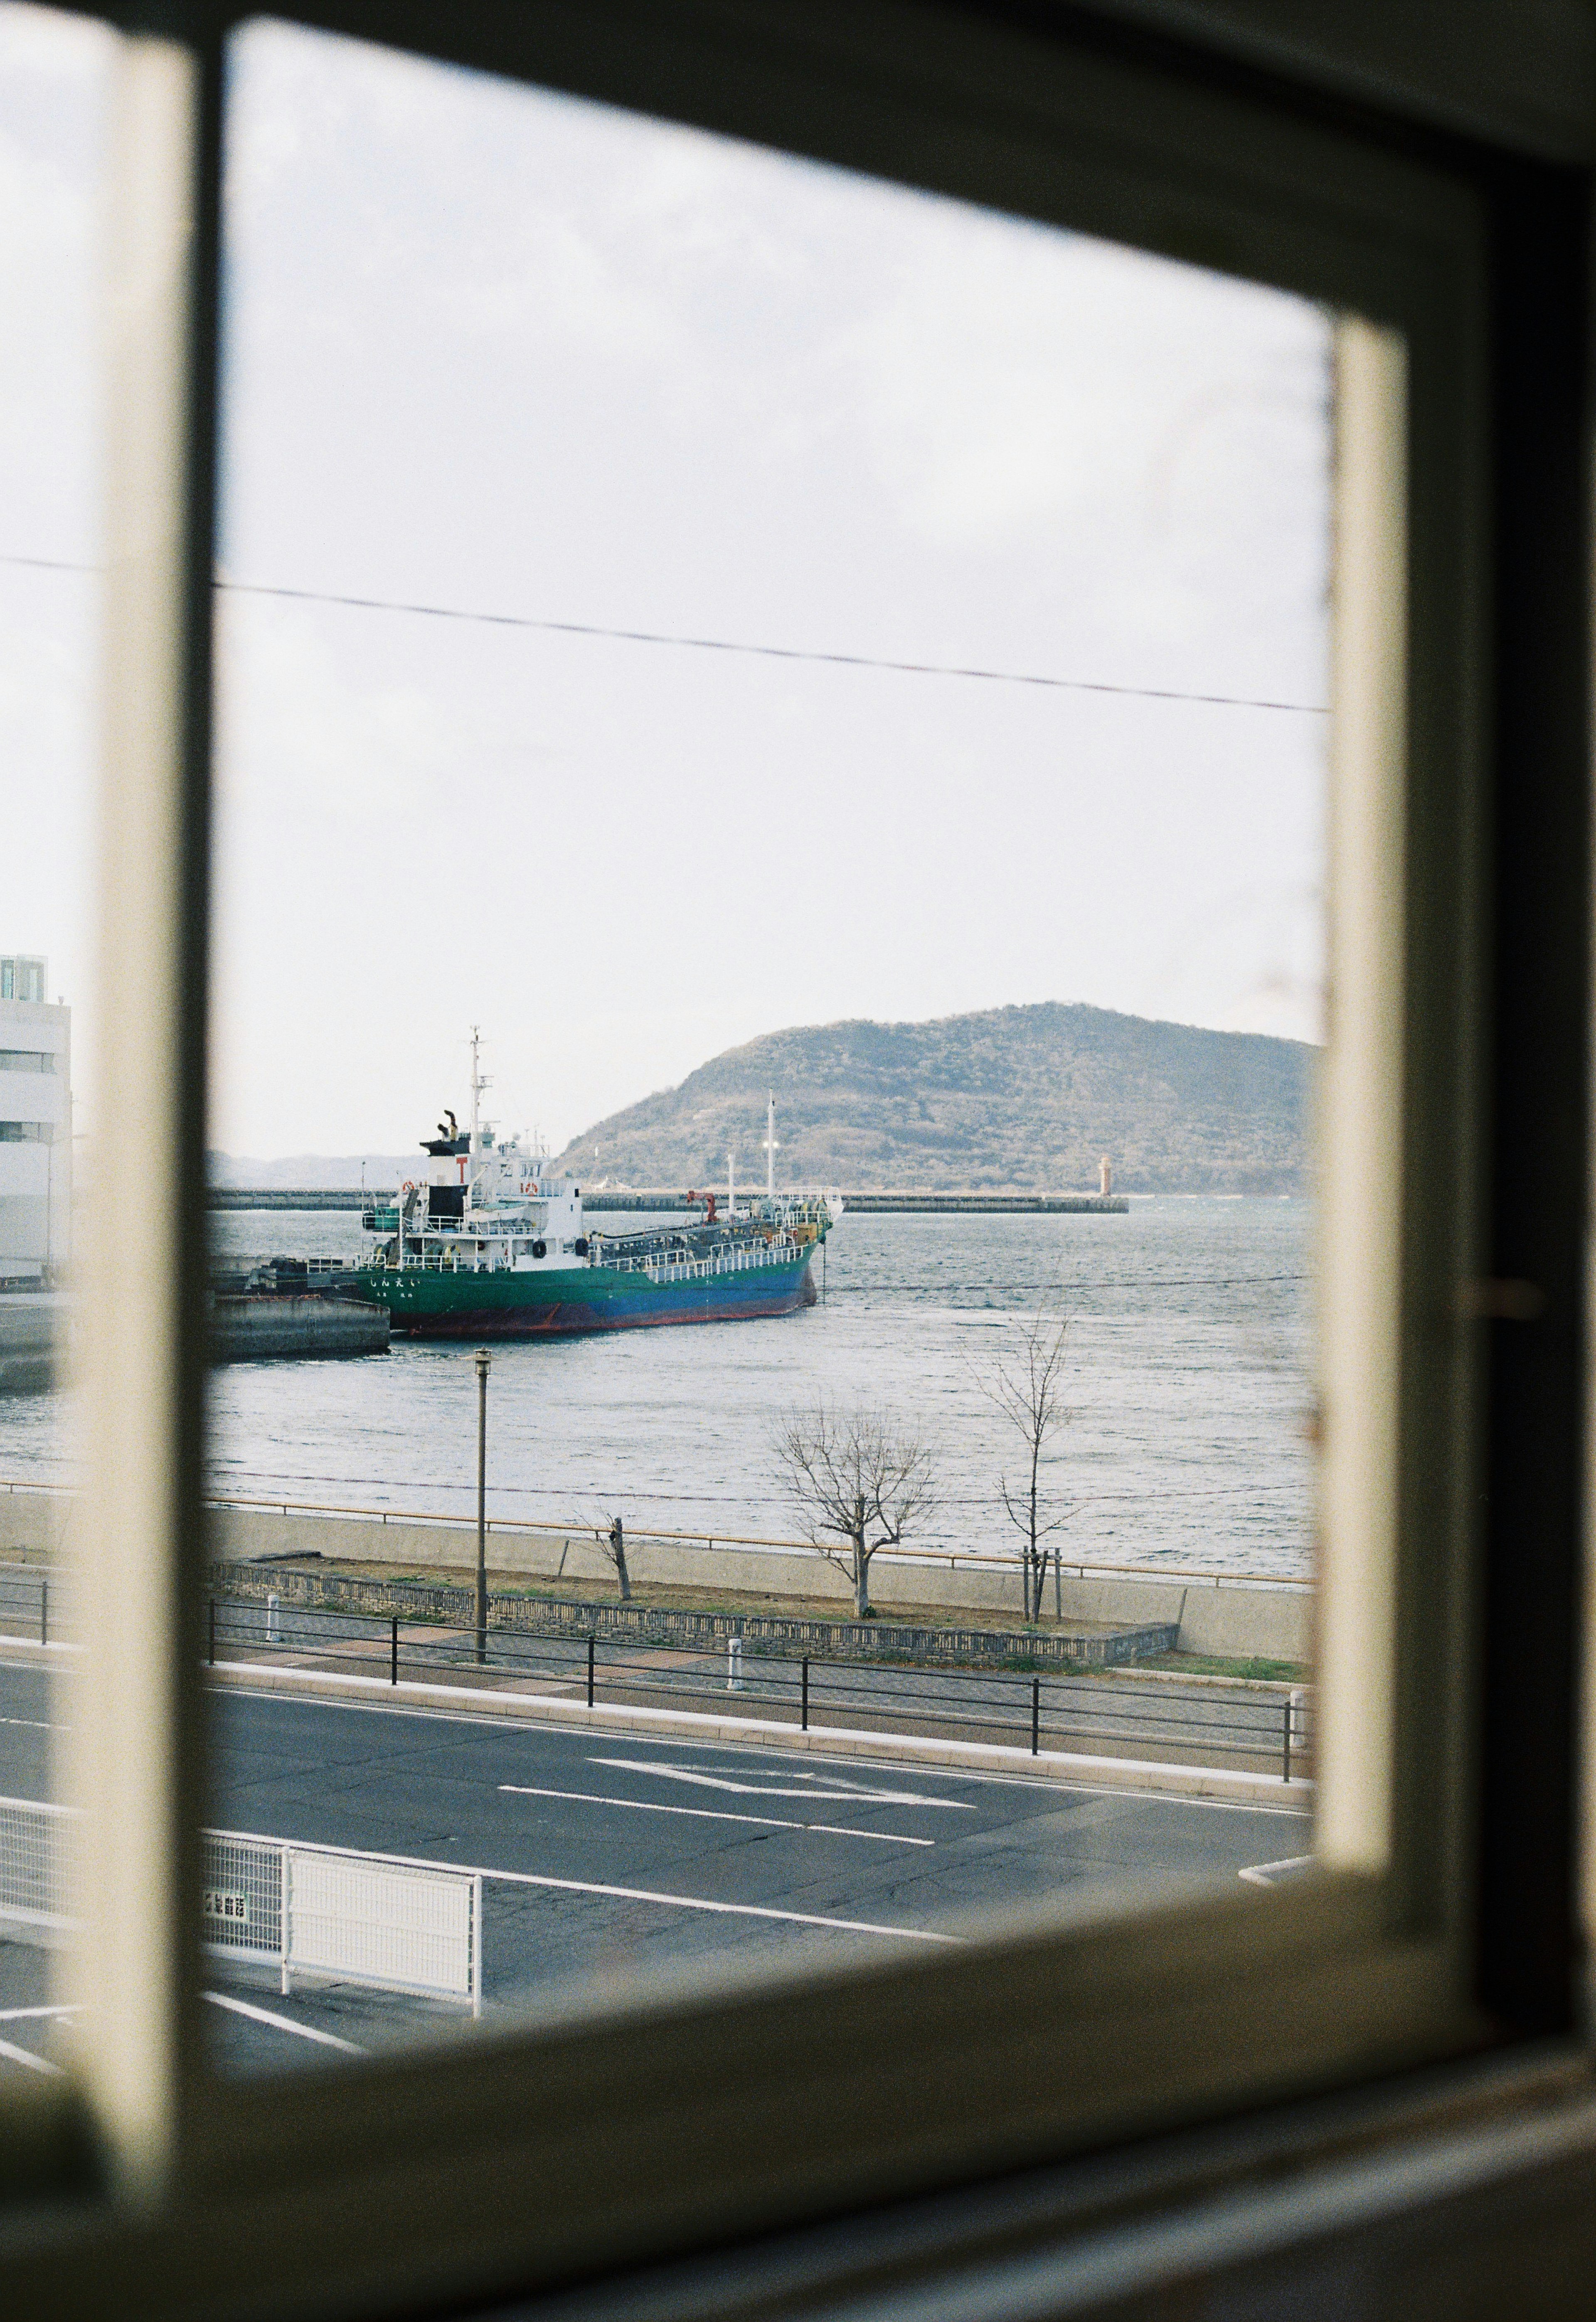
<path fill-rule="evenodd" d="M 93 1112 L 100 186 L 112 39 L 0 7 L 0 2099 L 72 2009 L 74 1259 Z"/>

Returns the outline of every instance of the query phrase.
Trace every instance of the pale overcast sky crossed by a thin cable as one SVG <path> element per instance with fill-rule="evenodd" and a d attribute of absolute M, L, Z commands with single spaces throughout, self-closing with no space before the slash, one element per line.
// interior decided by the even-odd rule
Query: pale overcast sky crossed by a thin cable
<path fill-rule="evenodd" d="M 0 7 L 9 557 L 95 557 L 105 53 Z M 276 26 L 232 107 L 225 580 L 1308 708 L 223 592 L 214 1145 L 404 1149 L 472 1022 L 555 1149 L 846 1015 L 1317 1038 L 1317 309 Z M 93 583 L 0 615 L 0 950 L 84 1008 Z"/>

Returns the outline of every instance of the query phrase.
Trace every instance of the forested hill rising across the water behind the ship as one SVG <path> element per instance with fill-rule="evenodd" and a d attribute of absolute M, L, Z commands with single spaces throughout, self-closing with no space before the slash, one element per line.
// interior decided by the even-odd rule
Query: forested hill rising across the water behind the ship
<path fill-rule="evenodd" d="M 929 1191 L 1292 1194 L 1317 1050 L 1106 1008 L 990 1008 L 934 1024 L 774 1031 L 597 1122 L 560 1156 L 578 1184 L 764 1182 L 776 1091 L 783 1184 Z"/>

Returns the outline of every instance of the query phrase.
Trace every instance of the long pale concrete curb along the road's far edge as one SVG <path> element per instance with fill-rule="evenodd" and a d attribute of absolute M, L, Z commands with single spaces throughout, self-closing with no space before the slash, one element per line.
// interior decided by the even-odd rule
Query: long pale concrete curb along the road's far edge
<path fill-rule="evenodd" d="M 623 1709 L 611 1702 L 571 1702 L 555 1693 L 488 1693 L 476 1686 L 420 1686 L 400 1679 L 393 1686 L 386 1676 L 344 1676 L 328 1670 L 279 1670 L 269 1663 L 218 1660 L 207 1665 L 207 1681 L 214 1686 L 239 1686 L 242 1690 L 281 1690 L 297 1686 L 304 1693 L 379 1695 L 386 1702 L 402 1702 L 407 1709 L 472 1709 L 476 1716 L 502 1716 L 590 1725 L 606 1732 L 683 1735 L 699 1742 L 762 1742 L 778 1748 L 825 1751 L 827 1758 L 906 1758 L 918 1765 L 971 1767 L 973 1772 L 999 1774 L 1052 1774 L 1092 1783 L 1094 1788 L 1152 1790 L 1178 1797 L 1213 1797 L 1229 1804 L 1252 1807 L 1308 1807 L 1315 1783 L 1285 1783 L 1273 1774 L 1234 1774 L 1224 1767 L 1157 1765 L 1141 1758 L 1094 1758 L 1090 1751 L 1038 1751 L 1008 1748 L 1001 1742 L 929 1742 L 915 1735 L 874 1735 L 848 1725 L 783 1725 L 774 1718 L 720 1718 L 702 1709 Z"/>

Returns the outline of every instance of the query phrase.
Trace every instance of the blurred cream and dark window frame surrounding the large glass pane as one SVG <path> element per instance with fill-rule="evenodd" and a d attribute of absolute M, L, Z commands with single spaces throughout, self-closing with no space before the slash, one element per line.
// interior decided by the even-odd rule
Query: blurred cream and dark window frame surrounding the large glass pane
<path fill-rule="evenodd" d="M 1577 1242 L 1584 1115 L 1575 1108 L 1573 1128 L 1552 1119 L 1545 1087 L 1550 1059 L 1568 1066 L 1568 1008 L 1540 1043 L 1524 1043 L 1517 1073 L 1508 1047 L 1491 1047 L 1494 1015 L 1526 989 L 1536 961 L 1575 1012 L 1587 989 L 1587 850 L 1582 831 L 1570 836 L 1568 799 L 1575 755 L 1573 787 L 1584 796 L 1584 697 L 1568 671 L 1570 629 L 1582 671 L 1584 594 L 1580 576 L 1570 622 L 1568 541 L 1552 576 L 1563 587 L 1554 655 L 1501 608 L 1503 430 L 1510 420 L 1524 430 L 1524 390 L 1512 404 L 1498 295 L 1503 253 L 1522 251 L 1545 186 L 1529 183 L 1526 165 L 1503 172 L 1368 116 L 1336 118 L 1317 100 L 1238 88 L 1189 51 L 1113 53 L 1101 23 L 1034 35 L 929 7 L 634 12 L 620 0 L 451 19 L 381 0 L 276 14 L 1220 265 L 1406 332 L 1408 650 L 1371 711 L 1382 734 L 1361 743 L 1375 815 L 1385 813 L 1389 841 L 1396 806 L 1406 850 L 1396 922 L 1375 931 L 1387 971 L 1396 945 L 1401 1005 L 1392 1012 L 1389 973 L 1368 978 L 1361 1001 L 1338 985 L 1340 1008 L 1366 1010 L 1359 1036 L 1375 1082 L 1327 1094 L 1331 1163 L 1361 1152 L 1387 1173 L 1392 1196 L 1373 1219 L 1387 1228 L 1373 1249 L 1361 1219 L 1373 1305 L 1345 1324 L 1333 1354 L 1329 1458 L 1345 1458 L 1338 1379 L 1382 1363 L 1389 1523 L 1403 1551 L 1387 1572 L 1389 1683 L 1375 1679 L 1373 1697 L 1389 1711 L 1403 1779 L 1387 1809 L 1357 1742 L 1368 1672 L 1352 1665 L 1345 1637 L 1331 1637 L 1324 1788 L 1336 1867 L 1313 1888 L 1106 1927 L 1015 1925 L 973 1955 L 799 1988 L 697 1978 L 625 2015 L 372 2060 L 337 2081 L 211 2081 L 200 1920 L 188 1909 L 200 1888 L 207 1546 L 204 1377 L 200 1333 L 186 1328 L 204 1310 L 204 1247 L 186 1228 L 204 1214 L 223 42 L 242 12 L 179 5 L 160 33 L 118 19 L 137 51 L 123 179 L 135 193 L 125 255 L 137 265 L 123 281 L 137 276 L 144 304 L 123 302 L 114 348 L 125 390 L 114 444 L 123 553 L 107 592 L 116 778 L 105 815 L 121 875 L 105 906 L 102 1103 L 149 1217 L 132 1252 L 114 1200 L 102 1200 L 93 1228 L 100 1293 L 91 1296 L 107 1319 L 88 1389 L 91 1607 L 116 1595 L 116 1616 L 91 1609 L 102 1674 L 79 1721 L 74 1774 L 116 1841 L 88 1906 L 79 1974 L 91 1992 L 130 1999 L 95 2020 L 72 2087 L 30 2087 L 0 2115 L 12 2183 L 77 2197 L 70 2227 L 56 2211 L 23 2269 L 39 2266 L 39 2292 L 63 2310 L 88 2303 L 112 2250 L 146 2269 L 151 2285 L 193 2266 L 221 2299 L 288 2301 L 311 2285 L 339 2285 L 360 2303 L 414 2296 L 418 2285 L 486 2294 L 1354 2085 L 1531 2029 L 1563 2034 L 1573 1618 L 1568 1663 L 1536 1728 L 1536 1746 L 1552 1737 L 1554 1779 L 1536 1820 L 1552 1862 L 1533 1888 L 1533 1962 L 1524 1930 L 1491 1916 L 1482 1876 L 1517 1862 L 1533 1878 L 1512 1830 L 1519 1802 L 1494 1797 L 1491 1767 L 1524 1772 L 1536 1739 L 1519 1718 L 1533 1623 L 1559 1588 L 1573 1614 L 1577 1551 L 1568 1488 L 1580 1472 L 1570 1393 L 1582 1382 L 1582 1300 L 1568 1228 Z M 174 30 L 188 39 L 186 58 L 170 46 Z M 1563 481 L 1568 441 L 1563 416 L 1543 460 Z M 1570 522 L 1577 548 L 1582 504 Z M 1371 560 L 1366 611 L 1389 608 L 1378 543 Z M 1526 783 L 1557 792 L 1533 836 L 1545 843 L 1554 824 L 1566 852 L 1536 952 L 1531 899 L 1503 896 L 1501 880 L 1491 892 L 1487 871 L 1512 836 L 1491 780 L 1503 736 L 1522 736 L 1515 720 L 1550 659 L 1557 778 Z M 1403 762 L 1399 799 L 1392 752 Z M 1378 831 L 1347 845 L 1352 866 L 1364 866 L 1364 901 L 1380 908 Z M 1533 880 L 1529 834 L 1510 854 L 1522 887 Z M 1343 880 L 1343 896 L 1354 887 L 1357 878 Z M 1366 931 L 1347 929 L 1345 940 L 1357 947 Z M 1515 1105 L 1503 1103 L 1505 1082 Z M 1508 1128 L 1526 1119 L 1552 1119 L 1557 1133 L 1561 1242 L 1552 1228 L 1536 1240 L 1510 1194 L 1522 1198 L 1522 1180 L 1503 1173 Z M 1345 1240 L 1359 1228 L 1352 1194 L 1347 1177 L 1327 1189 L 1343 1265 L 1359 1247 Z M 1529 1249 L 1522 1265 L 1508 1263 L 1515 1249 Z M 1538 1342 L 1491 1305 L 1503 1279 L 1540 1284 L 1554 1300 L 1550 1356 L 1552 1333 Z M 114 1326 L 112 1282 L 121 1284 Z M 1536 1426 L 1526 1398 L 1545 1393 L 1547 1361 L 1554 1409 Z M 1505 1588 L 1512 1542 L 1501 1537 L 1501 1498 L 1491 1495 L 1484 1523 L 1475 1514 L 1503 1468 L 1552 1523 L 1545 1570 L 1522 1602 Z M 1380 1507 L 1366 1500 L 1364 1516 L 1375 1521 Z M 1331 1593 L 1327 1621 L 1336 1618 Z M 142 1646 L 128 1653 L 132 1623 Z M 806 2053 L 815 2006 L 827 2009 L 827 2060 Z M 1015 2034 L 1038 2020 L 1052 2029 L 1048 2055 Z M 595 2146 L 606 2152 L 602 2183 Z M 692 2183 L 683 2150 L 695 2155 Z M 530 2190 L 539 2215 L 520 2208 Z"/>

